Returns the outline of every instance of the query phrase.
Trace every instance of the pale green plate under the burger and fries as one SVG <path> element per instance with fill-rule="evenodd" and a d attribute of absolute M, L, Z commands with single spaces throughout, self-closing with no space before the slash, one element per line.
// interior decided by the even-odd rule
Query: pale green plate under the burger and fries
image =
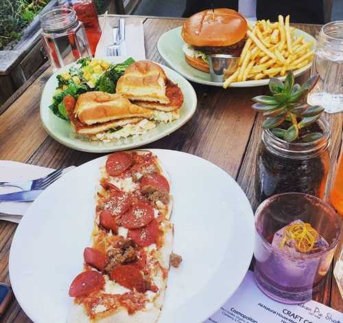
<path fill-rule="evenodd" d="M 251 25 L 255 25 L 255 21 L 250 21 Z M 173 30 L 169 30 L 165 32 L 157 42 L 157 49 L 163 59 L 167 62 L 172 69 L 178 71 L 182 76 L 185 76 L 187 80 L 191 80 L 193 82 L 197 82 L 204 85 L 213 85 L 215 87 L 222 87 L 222 82 L 213 82 L 211 81 L 211 76 L 209 73 L 204 71 L 200 71 L 188 65 L 185 60 L 185 55 L 182 52 L 182 46 L 185 44 L 181 37 L 181 29 L 182 27 L 174 28 Z M 296 36 L 303 36 L 305 41 L 312 41 L 314 45 L 312 45 L 311 50 L 314 50 L 316 47 L 316 39 L 312 37 L 307 32 L 303 32 L 302 30 L 294 30 L 294 34 Z M 294 76 L 299 76 L 303 74 L 307 69 L 311 67 L 311 63 L 307 64 L 306 66 L 302 67 L 301 69 L 296 69 L 294 72 Z M 285 76 L 280 77 L 280 80 L 285 80 Z M 230 84 L 230 87 L 259 87 L 261 85 L 268 85 L 269 78 L 265 78 L 263 80 L 247 80 L 244 82 L 233 82 Z"/>

